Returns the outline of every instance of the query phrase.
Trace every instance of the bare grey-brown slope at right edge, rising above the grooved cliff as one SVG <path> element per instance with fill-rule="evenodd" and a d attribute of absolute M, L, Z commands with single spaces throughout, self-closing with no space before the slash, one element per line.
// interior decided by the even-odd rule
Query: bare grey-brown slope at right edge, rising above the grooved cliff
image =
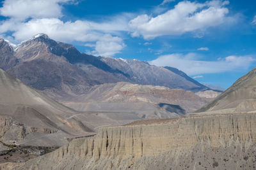
<path fill-rule="evenodd" d="M 256 67 L 198 112 L 218 110 L 233 113 L 256 110 Z"/>

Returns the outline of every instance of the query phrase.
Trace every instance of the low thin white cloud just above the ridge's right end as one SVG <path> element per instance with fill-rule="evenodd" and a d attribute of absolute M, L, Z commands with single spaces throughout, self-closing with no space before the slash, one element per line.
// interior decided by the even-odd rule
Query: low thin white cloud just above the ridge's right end
<path fill-rule="evenodd" d="M 162 55 L 149 63 L 156 66 L 177 67 L 177 69 L 180 69 L 189 75 L 196 75 L 243 70 L 250 67 L 253 62 L 256 62 L 254 56 L 232 55 L 221 60 L 205 61 L 196 59 L 195 55 L 195 53 L 188 53 L 187 55 L 173 53 L 170 55 Z"/>

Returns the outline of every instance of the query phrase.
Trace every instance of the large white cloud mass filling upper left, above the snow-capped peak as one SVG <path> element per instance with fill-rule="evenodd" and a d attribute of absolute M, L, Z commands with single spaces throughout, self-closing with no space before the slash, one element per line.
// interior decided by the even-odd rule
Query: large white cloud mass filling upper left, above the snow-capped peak
<path fill-rule="evenodd" d="M 93 53 L 97 55 L 113 56 L 120 52 L 125 46 L 124 42 L 113 34 L 120 35 L 120 31 L 128 31 L 131 18 L 129 13 L 107 18 L 105 22 L 63 22 L 63 4 L 75 2 L 76 0 L 5 0 L 0 14 L 8 18 L 0 22 L 1 37 L 6 37 L 4 34 L 11 31 L 11 39 L 19 43 L 43 32 L 56 41 L 84 42 L 86 46 L 94 48 Z"/>

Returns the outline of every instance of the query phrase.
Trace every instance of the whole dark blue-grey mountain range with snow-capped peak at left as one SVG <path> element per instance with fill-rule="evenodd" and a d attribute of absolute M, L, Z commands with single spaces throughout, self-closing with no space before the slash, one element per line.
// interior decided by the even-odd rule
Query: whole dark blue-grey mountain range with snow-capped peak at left
<path fill-rule="evenodd" d="M 209 90 L 174 68 L 86 55 L 46 34 L 37 34 L 17 46 L 1 39 L 0 53 L 1 68 L 57 100 L 83 94 L 93 85 L 120 81 L 193 92 Z"/>

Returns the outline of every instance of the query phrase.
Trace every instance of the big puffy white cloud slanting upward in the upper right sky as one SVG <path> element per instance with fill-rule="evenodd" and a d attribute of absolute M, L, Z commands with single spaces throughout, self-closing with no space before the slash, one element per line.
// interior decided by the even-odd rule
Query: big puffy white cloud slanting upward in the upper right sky
<path fill-rule="evenodd" d="M 145 39 L 203 31 L 225 21 L 228 8 L 224 6 L 227 4 L 228 1 L 207 1 L 205 3 L 182 1 L 172 10 L 157 17 L 139 15 L 129 22 L 129 27 L 132 29 L 133 37 L 143 36 Z"/>

